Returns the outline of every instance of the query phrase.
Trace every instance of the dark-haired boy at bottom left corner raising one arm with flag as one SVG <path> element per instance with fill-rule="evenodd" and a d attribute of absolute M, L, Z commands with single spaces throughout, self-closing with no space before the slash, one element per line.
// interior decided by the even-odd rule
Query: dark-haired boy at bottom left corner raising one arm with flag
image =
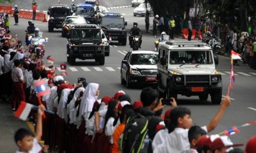
<path fill-rule="evenodd" d="M 35 134 L 29 129 L 20 128 L 14 135 L 14 140 L 19 150 L 16 152 L 41 152 L 42 147 L 38 143 L 42 136 L 42 115 L 44 113 L 44 105 L 38 106 L 37 122 Z"/>

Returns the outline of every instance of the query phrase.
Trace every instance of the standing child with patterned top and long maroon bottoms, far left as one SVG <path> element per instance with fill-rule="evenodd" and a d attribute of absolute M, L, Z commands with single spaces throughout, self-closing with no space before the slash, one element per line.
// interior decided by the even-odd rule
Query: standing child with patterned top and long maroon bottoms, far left
<path fill-rule="evenodd" d="M 22 73 L 23 63 L 21 60 L 14 61 L 15 68 L 12 69 L 12 111 L 19 107 L 20 101 L 25 101 L 24 75 Z"/>

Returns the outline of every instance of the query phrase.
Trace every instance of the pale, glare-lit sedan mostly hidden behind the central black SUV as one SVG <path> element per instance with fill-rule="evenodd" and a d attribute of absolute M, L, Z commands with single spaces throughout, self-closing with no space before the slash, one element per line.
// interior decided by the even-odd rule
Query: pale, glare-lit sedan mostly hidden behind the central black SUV
<path fill-rule="evenodd" d="M 69 31 L 69 27 L 76 24 L 87 24 L 84 17 L 79 16 L 68 16 L 64 20 L 64 24 L 62 26 L 61 36 L 66 37 Z"/>

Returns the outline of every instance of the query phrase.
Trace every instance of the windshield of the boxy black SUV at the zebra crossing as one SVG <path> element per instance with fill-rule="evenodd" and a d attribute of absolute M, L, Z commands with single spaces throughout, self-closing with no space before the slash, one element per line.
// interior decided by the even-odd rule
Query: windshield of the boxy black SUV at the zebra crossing
<path fill-rule="evenodd" d="M 73 29 L 72 39 L 100 39 L 100 29 Z"/>

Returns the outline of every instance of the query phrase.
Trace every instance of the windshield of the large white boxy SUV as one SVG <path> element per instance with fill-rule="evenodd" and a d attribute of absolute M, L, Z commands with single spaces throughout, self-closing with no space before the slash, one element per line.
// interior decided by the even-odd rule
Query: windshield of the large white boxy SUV
<path fill-rule="evenodd" d="M 212 64 L 212 54 L 210 50 L 195 51 L 169 51 L 169 64 Z"/>

